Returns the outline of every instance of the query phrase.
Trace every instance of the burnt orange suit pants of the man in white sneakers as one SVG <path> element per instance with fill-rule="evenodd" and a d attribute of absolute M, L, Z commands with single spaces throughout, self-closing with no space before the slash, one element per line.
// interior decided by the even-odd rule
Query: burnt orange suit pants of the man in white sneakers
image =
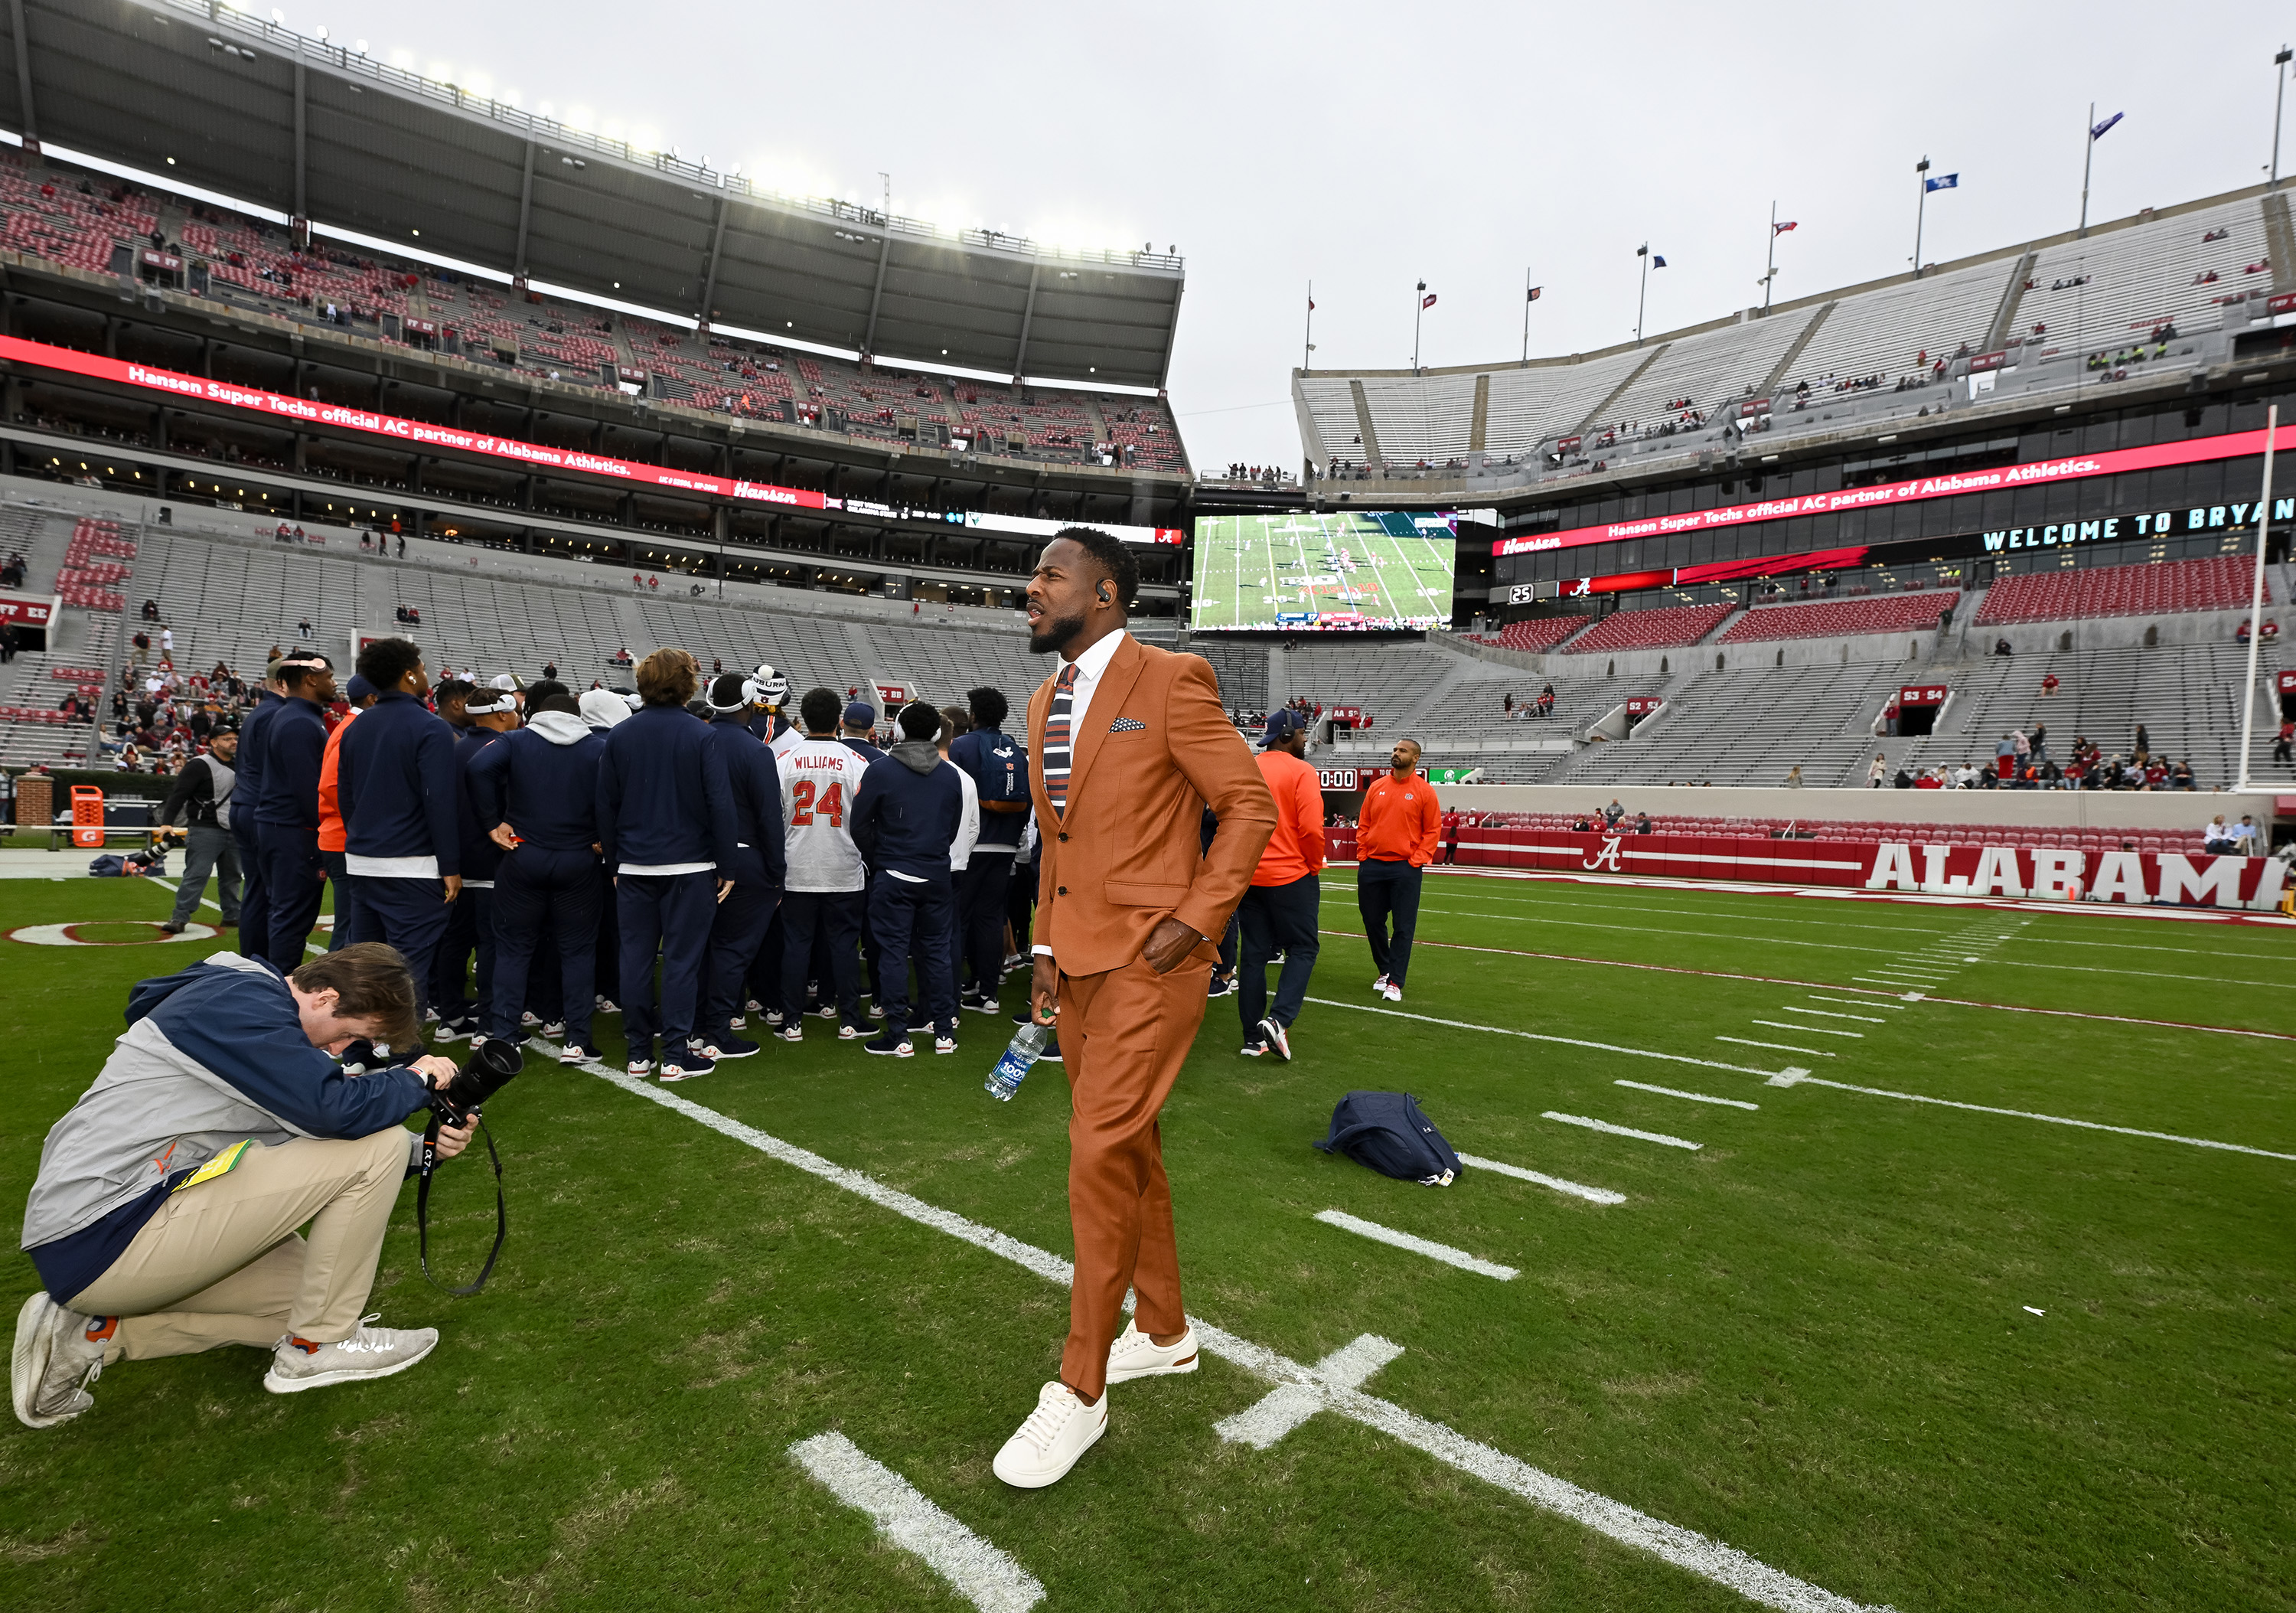
<path fill-rule="evenodd" d="M 1215 956 L 1199 944 L 1171 974 L 1134 958 L 1107 974 L 1061 977 L 1068 1220 L 1077 1241 L 1061 1381 L 1079 1395 L 1107 1388 L 1127 1287 L 1143 1333 L 1187 1328 L 1157 1112 L 1203 1025 Z"/>

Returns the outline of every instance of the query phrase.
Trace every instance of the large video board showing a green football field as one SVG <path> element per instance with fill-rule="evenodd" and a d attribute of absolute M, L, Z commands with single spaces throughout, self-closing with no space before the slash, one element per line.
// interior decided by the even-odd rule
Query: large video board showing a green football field
<path fill-rule="evenodd" d="M 1453 540 L 1401 538 L 1366 512 L 1196 517 L 1189 627 L 1311 627 L 1362 613 L 1364 627 L 1444 627 Z M 1352 625 L 1352 623 L 1345 623 Z"/>

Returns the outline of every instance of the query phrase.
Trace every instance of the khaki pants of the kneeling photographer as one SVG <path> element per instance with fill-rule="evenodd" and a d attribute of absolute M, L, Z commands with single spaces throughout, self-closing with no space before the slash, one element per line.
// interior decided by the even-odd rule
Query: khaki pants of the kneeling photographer
<path fill-rule="evenodd" d="M 411 1158 L 402 1126 L 372 1137 L 296 1137 L 168 1195 L 101 1278 L 71 1298 L 119 1317 L 103 1360 L 271 1349 L 282 1335 L 335 1344 L 358 1333 L 383 1229 Z M 310 1238 L 296 1227 L 310 1222 Z"/>

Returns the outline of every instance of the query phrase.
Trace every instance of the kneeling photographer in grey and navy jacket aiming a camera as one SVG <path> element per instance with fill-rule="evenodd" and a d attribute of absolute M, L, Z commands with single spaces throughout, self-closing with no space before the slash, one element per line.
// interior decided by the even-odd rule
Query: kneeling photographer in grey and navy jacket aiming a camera
<path fill-rule="evenodd" d="M 390 1206 L 422 1163 L 402 1121 L 448 1091 L 455 1066 L 349 1075 L 328 1057 L 358 1039 L 422 1043 L 406 960 L 358 942 L 280 977 L 220 951 L 140 981 L 126 1020 L 39 1153 L 23 1248 L 41 1291 L 16 1317 L 16 1415 L 80 1415 L 87 1383 L 122 1356 L 253 1344 L 271 1351 L 273 1395 L 422 1360 L 434 1328 L 377 1328 L 363 1312 Z M 455 1124 L 434 1156 L 452 1158 L 475 1117 L 439 1103 Z"/>

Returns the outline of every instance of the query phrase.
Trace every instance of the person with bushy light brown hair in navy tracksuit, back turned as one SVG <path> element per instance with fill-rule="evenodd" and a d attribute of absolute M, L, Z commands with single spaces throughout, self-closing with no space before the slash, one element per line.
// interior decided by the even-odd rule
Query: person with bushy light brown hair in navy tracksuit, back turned
<path fill-rule="evenodd" d="M 726 761 L 709 731 L 687 717 L 700 669 L 677 648 L 638 664 L 643 705 L 606 738 L 597 770 L 597 827 L 615 875 L 622 926 L 622 1032 L 627 1071 L 677 1082 L 716 1068 L 687 1043 L 700 1011 L 716 901 L 739 866 Z M 654 993 L 654 954 L 661 993 Z"/>

